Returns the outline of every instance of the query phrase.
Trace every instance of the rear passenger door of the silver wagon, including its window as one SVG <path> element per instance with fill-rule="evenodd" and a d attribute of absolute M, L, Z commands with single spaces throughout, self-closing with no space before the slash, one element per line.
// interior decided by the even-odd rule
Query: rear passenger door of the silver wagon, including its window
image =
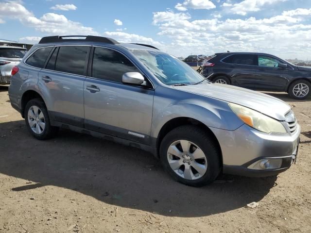
<path fill-rule="evenodd" d="M 83 84 L 90 48 L 55 47 L 39 72 L 38 87 L 52 120 L 83 127 Z"/>

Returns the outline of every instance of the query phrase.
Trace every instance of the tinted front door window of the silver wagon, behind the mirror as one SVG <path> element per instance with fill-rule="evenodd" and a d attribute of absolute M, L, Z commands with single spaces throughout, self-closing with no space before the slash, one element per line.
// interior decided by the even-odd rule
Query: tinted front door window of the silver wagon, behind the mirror
<path fill-rule="evenodd" d="M 126 72 L 139 72 L 139 70 L 121 53 L 95 48 L 92 77 L 121 83 L 122 76 Z"/>

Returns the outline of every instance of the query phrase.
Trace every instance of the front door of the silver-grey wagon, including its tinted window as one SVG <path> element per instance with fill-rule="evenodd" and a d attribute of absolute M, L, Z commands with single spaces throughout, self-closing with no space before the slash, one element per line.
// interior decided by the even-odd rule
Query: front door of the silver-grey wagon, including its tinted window
<path fill-rule="evenodd" d="M 93 47 L 91 56 L 84 83 L 86 129 L 150 144 L 155 94 L 151 83 L 122 83 L 124 73 L 140 71 L 119 51 Z"/>

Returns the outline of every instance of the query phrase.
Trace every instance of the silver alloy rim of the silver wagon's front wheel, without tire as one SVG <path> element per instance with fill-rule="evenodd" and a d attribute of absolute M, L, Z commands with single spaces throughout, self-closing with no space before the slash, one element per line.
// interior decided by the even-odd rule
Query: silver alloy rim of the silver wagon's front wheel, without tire
<path fill-rule="evenodd" d="M 167 159 L 173 171 L 187 180 L 199 179 L 207 171 L 203 150 L 188 140 L 173 142 L 168 148 Z"/>

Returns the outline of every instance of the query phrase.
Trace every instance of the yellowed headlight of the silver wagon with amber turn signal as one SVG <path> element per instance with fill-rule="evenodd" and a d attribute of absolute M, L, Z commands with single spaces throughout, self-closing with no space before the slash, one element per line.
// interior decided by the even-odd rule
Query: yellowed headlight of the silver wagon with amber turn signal
<path fill-rule="evenodd" d="M 229 103 L 229 106 L 245 124 L 256 130 L 264 133 L 287 133 L 286 129 L 279 121 L 269 116 L 265 116 L 239 104 Z"/>

